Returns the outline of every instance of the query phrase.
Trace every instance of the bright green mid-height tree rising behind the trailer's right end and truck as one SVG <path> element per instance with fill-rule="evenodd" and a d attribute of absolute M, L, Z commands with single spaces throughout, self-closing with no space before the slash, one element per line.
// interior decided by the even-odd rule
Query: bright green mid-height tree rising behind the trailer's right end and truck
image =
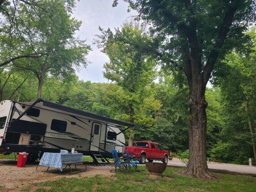
<path fill-rule="evenodd" d="M 151 38 L 134 24 L 124 24 L 121 29 L 116 29 L 115 34 L 110 29 L 100 31 L 102 35 L 96 42 L 110 58 L 110 62 L 104 65 L 104 76 L 122 88 L 114 89 L 114 92 L 109 89 L 107 96 L 115 98 L 109 101 L 119 106 L 112 110 L 122 111 L 120 119 L 135 124 L 134 131 L 131 129 L 129 133 L 133 138 L 154 124 L 161 107 L 150 87 L 155 79 L 156 60 L 134 48 L 133 44 L 147 44 Z"/>

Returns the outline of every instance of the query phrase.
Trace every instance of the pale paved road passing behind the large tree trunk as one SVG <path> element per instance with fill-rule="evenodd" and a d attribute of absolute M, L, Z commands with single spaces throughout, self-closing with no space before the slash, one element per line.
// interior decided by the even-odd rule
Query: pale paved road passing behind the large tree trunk
<path fill-rule="evenodd" d="M 169 161 L 168 165 L 186 167 L 186 165 L 177 158 L 173 158 L 171 161 Z M 215 162 L 208 163 L 207 165 L 208 165 L 208 168 L 212 168 L 212 169 L 228 170 L 228 171 L 238 172 L 238 173 L 256 174 L 256 167 L 250 167 L 248 165 L 235 165 L 235 164 L 215 163 Z"/>

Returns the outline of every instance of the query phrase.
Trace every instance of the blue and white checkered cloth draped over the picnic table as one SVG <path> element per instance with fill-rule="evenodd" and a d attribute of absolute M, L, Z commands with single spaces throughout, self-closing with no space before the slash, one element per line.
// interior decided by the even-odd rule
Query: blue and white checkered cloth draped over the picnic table
<path fill-rule="evenodd" d="M 58 168 L 62 171 L 62 163 L 83 161 L 82 153 L 60 154 L 60 153 L 44 153 L 40 159 L 39 165 Z"/>

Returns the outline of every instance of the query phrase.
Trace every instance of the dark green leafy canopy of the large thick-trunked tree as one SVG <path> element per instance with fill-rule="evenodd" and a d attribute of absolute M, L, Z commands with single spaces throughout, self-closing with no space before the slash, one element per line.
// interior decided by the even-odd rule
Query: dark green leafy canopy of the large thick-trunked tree
<path fill-rule="evenodd" d="M 117 0 L 115 0 L 117 2 Z M 192 36 L 199 51 L 200 69 L 207 63 L 213 49 L 217 49 L 220 27 L 225 13 L 232 6 L 235 16 L 223 47 L 218 49 L 219 58 L 223 58 L 232 48 L 244 48 L 243 44 L 249 38 L 243 32 L 250 22 L 254 21 L 254 2 L 252 0 L 208 0 L 208 1 L 179 1 L 179 0 L 124 0 L 129 3 L 130 9 L 138 12 L 137 19 L 150 23 L 149 31 L 156 44 L 160 44 L 161 59 L 168 67 L 182 72 L 182 68 L 171 65 L 170 60 L 183 60 L 186 51 L 182 46 L 193 48 Z M 191 2 L 191 4 L 190 4 Z M 116 6 L 116 4 L 113 4 Z M 232 10 L 233 11 L 233 10 Z M 196 32 L 194 31 L 196 30 Z M 189 42 L 188 42 L 189 41 Z M 191 53 L 190 53 L 191 54 Z M 195 56 L 195 53 L 191 54 Z M 176 64 L 183 67 L 183 63 Z"/>

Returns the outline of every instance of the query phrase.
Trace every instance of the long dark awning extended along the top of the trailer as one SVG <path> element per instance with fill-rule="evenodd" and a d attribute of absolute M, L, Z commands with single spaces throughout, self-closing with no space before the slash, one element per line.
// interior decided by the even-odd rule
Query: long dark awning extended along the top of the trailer
<path fill-rule="evenodd" d="M 24 103 L 21 103 L 21 104 L 31 106 L 34 103 L 35 102 L 24 102 Z M 134 124 L 131 124 L 131 123 L 128 123 L 128 122 L 124 122 L 124 121 L 121 121 L 121 120 L 115 120 L 115 119 L 111 119 L 111 118 L 108 118 L 108 117 L 103 117 L 103 116 L 96 115 L 96 114 L 93 114 L 93 113 L 88 113 L 88 112 L 85 112 L 85 111 L 82 111 L 82 110 L 66 107 L 66 106 L 56 104 L 56 103 L 52 103 L 52 102 L 49 102 L 49 101 L 45 101 L 45 100 L 42 100 L 42 99 L 37 99 L 37 103 L 35 104 L 35 107 L 45 108 L 45 109 L 51 108 L 52 110 L 57 111 L 57 112 L 72 113 L 72 114 L 76 114 L 76 115 L 80 115 L 80 116 L 85 116 L 87 118 L 107 121 L 107 122 L 117 124 L 117 125 L 122 125 L 122 126 L 127 126 L 127 127 L 134 127 Z"/>

